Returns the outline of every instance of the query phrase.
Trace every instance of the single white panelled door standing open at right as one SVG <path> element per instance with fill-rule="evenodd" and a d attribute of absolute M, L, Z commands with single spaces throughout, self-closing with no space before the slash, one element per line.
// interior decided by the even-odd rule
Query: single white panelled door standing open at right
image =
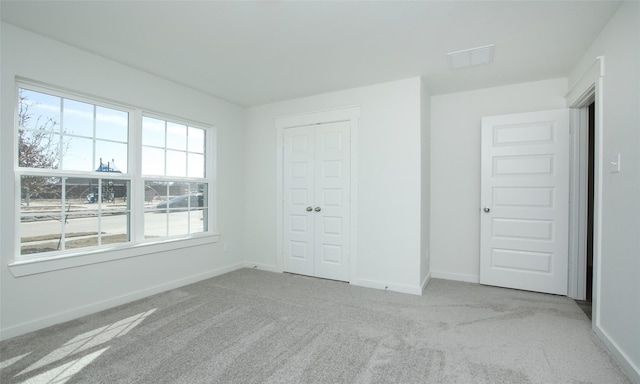
<path fill-rule="evenodd" d="M 569 111 L 482 119 L 480 283 L 567 294 Z"/>

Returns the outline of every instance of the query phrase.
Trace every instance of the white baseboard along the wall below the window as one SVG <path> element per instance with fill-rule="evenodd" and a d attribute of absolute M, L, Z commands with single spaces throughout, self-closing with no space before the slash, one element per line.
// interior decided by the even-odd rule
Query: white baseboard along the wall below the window
<path fill-rule="evenodd" d="M 155 295 L 157 293 L 165 292 L 174 288 L 179 288 L 185 285 L 197 283 L 198 281 L 219 276 L 219 275 L 232 272 L 244 267 L 245 266 L 242 263 L 226 266 L 223 268 L 215 269 L 213 271 L 199 273 L 197 275 L 192 275 L 183 279 L 173 280 L 164 284 L 141 289 L 136 292 L 131 292 L 126 295 L 99 301 L 97 303 L 92 303 L 83 307 L 78 307 L 65 312 L 56 313 L 51 316 L 46 316 L 37 320 L 32 320 L 32 321 L 14 325 L 8 328 L 0 329 L 0 340 L 7 340 L 12 337 L 16 337 L 28 332 L 37 331 L 39 329 L 46 328 L 55 324 L 63 323 L 65 321 L 74 320 L 82 316 L 100 312 L 102 310 L 113 308 L 118 305 L 127 304 L 132 301 L 140 300 L 145 297 Z"/>

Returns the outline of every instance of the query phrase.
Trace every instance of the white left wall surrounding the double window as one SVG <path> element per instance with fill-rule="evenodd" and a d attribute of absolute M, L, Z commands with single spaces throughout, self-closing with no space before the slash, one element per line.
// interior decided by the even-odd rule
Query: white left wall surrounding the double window
<path fill-rule="evenodd" d="M 75 318 L 241 266 L 244 109 L 147 73 L 2 24 L 0 287 L 2 338 Z M 45 82 L 217 127 L 220 242 L 14 277 L 15 77 Z M 229 252 L 222 251 L 228 242 Z"/>

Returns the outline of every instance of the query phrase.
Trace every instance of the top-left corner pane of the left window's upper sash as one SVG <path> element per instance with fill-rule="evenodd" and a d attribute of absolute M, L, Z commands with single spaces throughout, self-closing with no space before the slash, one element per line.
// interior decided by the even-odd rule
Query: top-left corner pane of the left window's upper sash
<path fill-rule="evenodd" d="M 60 98 L 28 89 L 20 89 L 18 126 L 59 132 Z"/>

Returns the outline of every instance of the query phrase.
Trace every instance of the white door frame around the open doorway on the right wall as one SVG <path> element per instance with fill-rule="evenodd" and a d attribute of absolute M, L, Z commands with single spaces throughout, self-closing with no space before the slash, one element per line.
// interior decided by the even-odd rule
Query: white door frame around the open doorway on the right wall
<path fill-rule="evenodd" d="M 592 324 L 600 324 L 600 266 L 602 258 L 602 174 L 603 174 L 603 94 L 602 86 L 605 76 L 604 57 L 598 56 L 595 61 L 576 78 L 567 92 L 567 107 L 572 109 L 572 182 L 570 186 L 570 238 L 569 238 L 569 290 L 568 296 L 582 299 L 585 295 L 586 251 L 581 248 L 586 244 L 587 231 L 586 212 L 586 177 L 587 167 L 586 138 L 588 119 L 586 111 L 592 102 L 595 107 L 594 137 L 594 195 L 593 195 L 593 295 Z"/>

